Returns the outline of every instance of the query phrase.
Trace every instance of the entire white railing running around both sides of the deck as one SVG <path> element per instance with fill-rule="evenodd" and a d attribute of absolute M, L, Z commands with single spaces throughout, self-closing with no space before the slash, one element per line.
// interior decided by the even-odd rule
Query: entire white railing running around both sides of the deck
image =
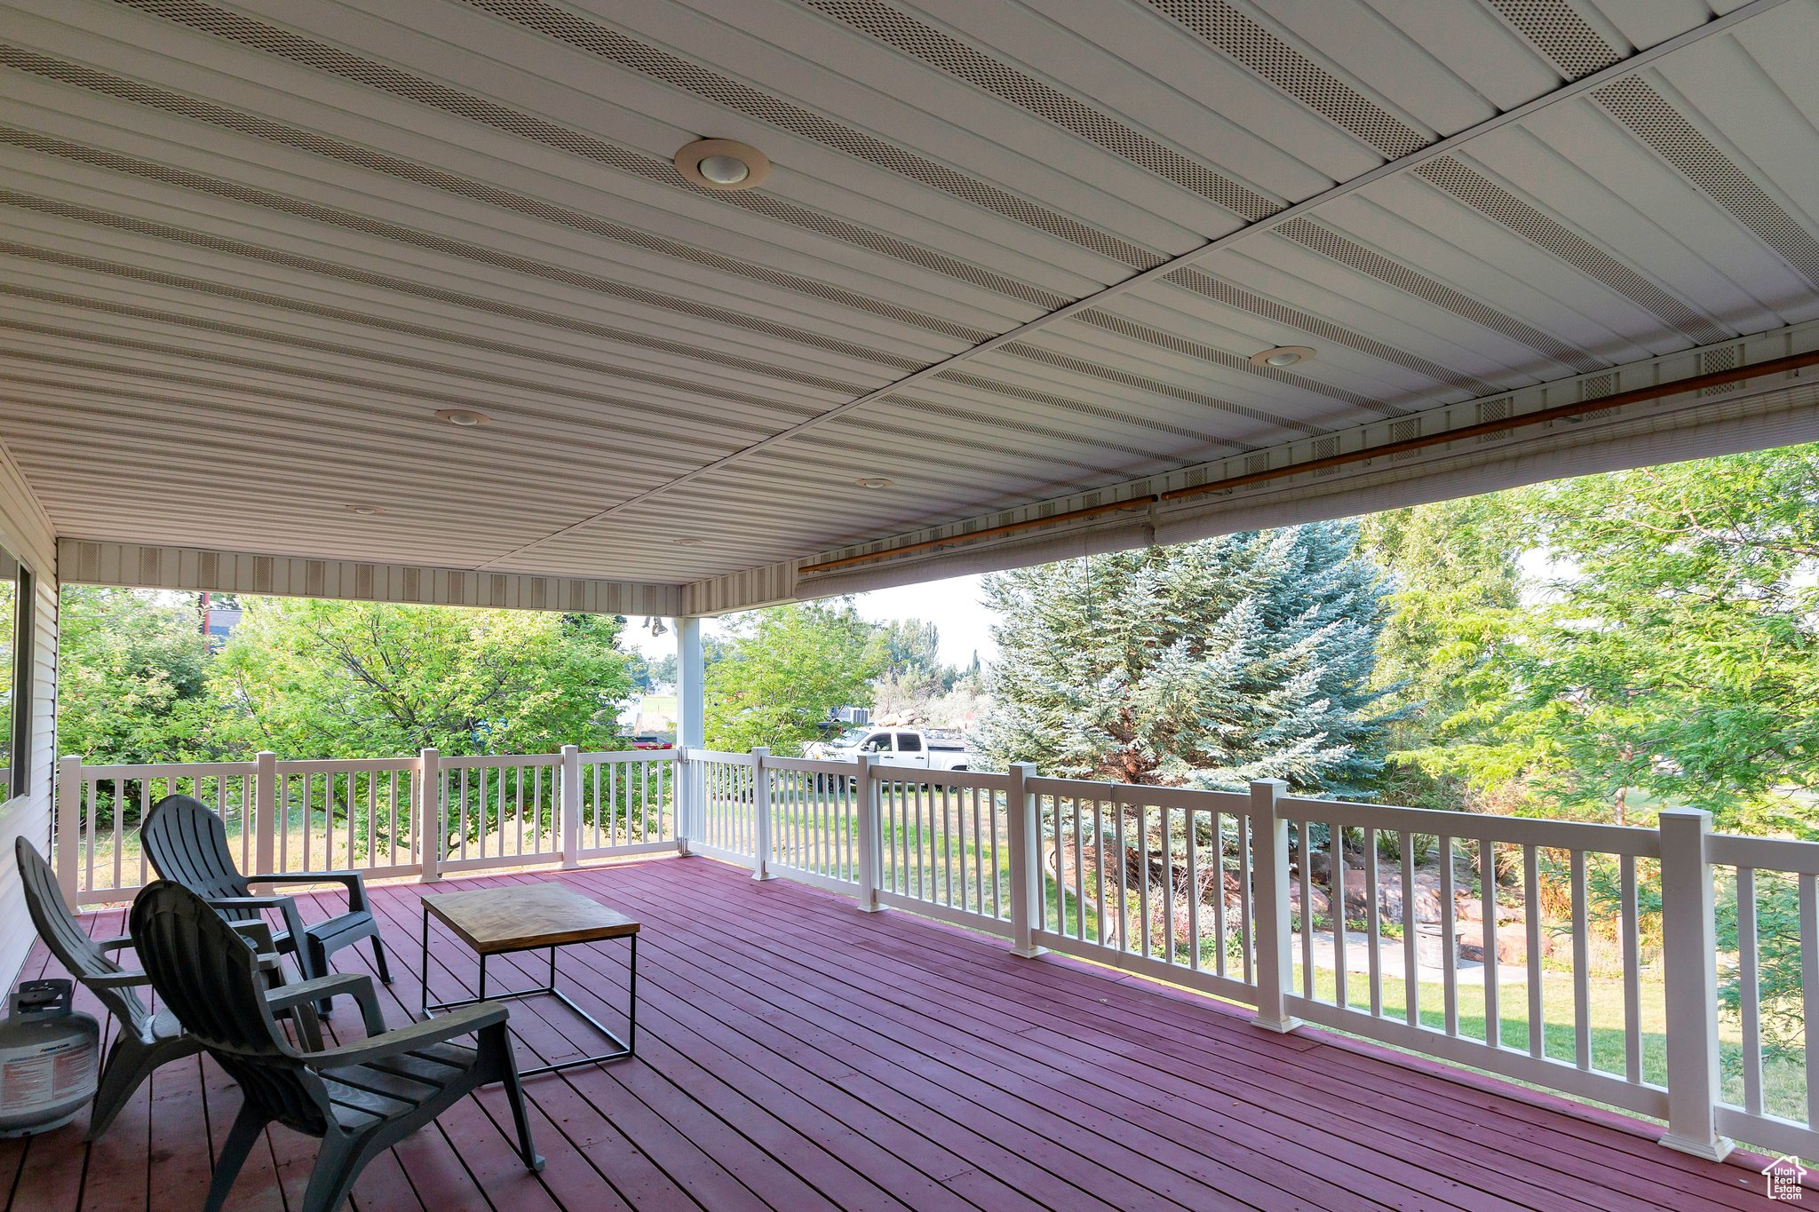
<path fill-rule="evenodd" d="M 173 790 L 220 812 L 249 872 L 693 850 L 1199 988 L 1271 1030 L 1317 1023 L 1664 1119 L 1693 1154 L 1735 1136 L 1819 1156 L 1819 1081 L 1794 1063 L 1819 1036 L 1819 843 L 1712 834 L 1704 812 L 1633 829 L 762 749 L 65 758 L 73 905 L 147 879 L 136 825 Z"/>

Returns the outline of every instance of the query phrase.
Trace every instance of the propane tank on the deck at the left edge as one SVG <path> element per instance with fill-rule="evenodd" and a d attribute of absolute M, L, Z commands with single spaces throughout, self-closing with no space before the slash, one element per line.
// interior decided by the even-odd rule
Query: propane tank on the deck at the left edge
<path fill-rule="evenodd" d="M 13 990 L 0 1019 L 0 1136 L 60 1128 L 95 1098 L 102 1025 L 73 1001 L 73 981 Z"/>

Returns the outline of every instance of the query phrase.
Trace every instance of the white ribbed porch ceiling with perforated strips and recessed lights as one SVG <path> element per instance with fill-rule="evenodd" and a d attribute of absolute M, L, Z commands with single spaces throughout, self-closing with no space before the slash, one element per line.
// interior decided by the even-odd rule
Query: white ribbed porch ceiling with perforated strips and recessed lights
<path fill-rule="evenodd" d="M 1819 318 L 1812 0 L 0 11 L 65 538 L 680 585 Z"/>

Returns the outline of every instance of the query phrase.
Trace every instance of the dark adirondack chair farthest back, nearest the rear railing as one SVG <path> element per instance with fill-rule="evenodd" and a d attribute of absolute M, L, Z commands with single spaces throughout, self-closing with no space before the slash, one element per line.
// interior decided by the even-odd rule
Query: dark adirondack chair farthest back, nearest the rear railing
<path fill-rule="evenodd" d="M 307 870 L 284 874 L 242 876 L 227 849 L 227 829 L 198 800 L 166 796 L 151 805 L 138 830 L 140 845 L 158 874 L 175 879 L 229 921 L 260 918 L 262 910 L 284 914 L 284 929 L 273 930 L 273 945 L 296 956 L 304 978 L 329 974 L 329 956 L 364 938 L 373 939 L 373 963 L 378 979 L 391 983 L 386 965 L 386 945 L 378 938 L 378 923 L 366 907 L 366 883 L 357 870 Z M 289 896 L 253 896 L 253 883 L 340 883 L 347 889 L 347 912 L 327 921 L 304 925 L 296 899 Z M 322 1012 L 327 1014 L 327 1003 Z"/>

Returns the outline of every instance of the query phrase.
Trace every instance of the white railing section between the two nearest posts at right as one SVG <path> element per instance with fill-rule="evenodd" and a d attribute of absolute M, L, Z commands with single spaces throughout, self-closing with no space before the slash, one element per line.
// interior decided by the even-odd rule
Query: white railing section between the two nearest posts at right
<path fill-rule="evenodd" d="M 1311 903 L 1310 870 L 1317 859 L 1324 859 L 1332 898 L 1328 930 L 1317 936 L 1306 918 L 1291 923 L 1299 927 L 1291 954 L 1297 976 L 1284 998 L 1291 1016 L 1668 1118 L 1666 1087 L 1648 1081 L 1643 1063 L 1639 890 L 1661 887 L 1655 830 L 1333 800 L 1284 798 L 1277 814 L 1288 823 L 1297 859 L 1291 899 Z M 1424 838 L 1432 838 L 1439 859 L 1437 921 L 1424 929 L 1419 916 L 1404 914 L 1399 936 L 1386 938 L 1375 894 L 1382 867 L 1393 869 L 1395 887 L 1410 890 L 1408 905 L 1417 890 L 1415 849 Z M 1357 858 L 1350 859 L 1348 850 Z M 1393 858 L 1384 859 L 1384 852 Z M 1563 905 L 1543 905 L 1543 870 L 1564 894 Z M 1595 898 L 1593 876 L 1604 885 L 1603 898 Z M 1359 885 L 1357 898 L 1352 883 Z M 1462 901 L 1470 919 L 1461 914 Z M 1552 939 L 1543 934 L 1550 912 L 1568 923 L 1566 947 L 1553 958 Z M 1504 918 L 1524 923 L 1523 959 L 1515 965 L 1501 959 L 1504 945 L 1515 941 L 1499 930 Z M 1593 921 L 1603 927 L 1599 934 Z M 1608 1027 L 1595 1025 L 1592 1005 L 1592 945 L 1601 938 L 1613 939 L 1606 967 L 1621 972 L 1613 988 L 1621 1005 Z M 1461 943 L 1481 956 L 1470 987 L 1462 987 Z M 1317 965 L 1315 950 L 1330 961 Z M 1524 992 L 1521 1016 L 1510 1021 L 1502 1014 L 1504 983 Z M 1433 985 L 1441 996 L 1428 1005 L 1422 988 Z M 1470 1021 L 1462 1014 L 1466 992 Z"/>

